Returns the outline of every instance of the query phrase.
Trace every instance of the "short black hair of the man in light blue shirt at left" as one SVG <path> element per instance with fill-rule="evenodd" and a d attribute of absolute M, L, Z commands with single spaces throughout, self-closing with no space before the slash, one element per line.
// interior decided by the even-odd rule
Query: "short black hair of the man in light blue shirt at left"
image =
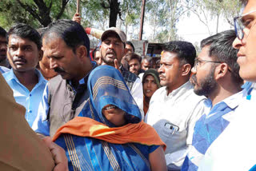
<path fill-rule="evenodd" d="M 42 48 L 42 39 L 37 30 L 35 30 L 32 26 L 29 26 L 24 23 L 15 24 L 10 28 L 7 34 L 7 42 L 9 42 L 9 38 L 11 35 L 17 35 L 20 38 L 26 38 L 30 41 L 34 42 L 38 46 L 38 50 Z"/>

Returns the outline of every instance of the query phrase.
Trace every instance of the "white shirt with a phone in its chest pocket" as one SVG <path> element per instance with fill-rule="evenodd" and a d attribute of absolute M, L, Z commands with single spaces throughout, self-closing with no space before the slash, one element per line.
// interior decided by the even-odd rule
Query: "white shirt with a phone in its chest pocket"
<path fill-rule="evenodd" d="M 151 97 L 146 123 L 152 125 L 166 143 L 168 169 L 181 169 L 192 145 L 194 124 L 204 113 L 204 99 L 206 97 L 194 93 L 190 82 L 168 95 L 166 86 L 162 87 Z"/>

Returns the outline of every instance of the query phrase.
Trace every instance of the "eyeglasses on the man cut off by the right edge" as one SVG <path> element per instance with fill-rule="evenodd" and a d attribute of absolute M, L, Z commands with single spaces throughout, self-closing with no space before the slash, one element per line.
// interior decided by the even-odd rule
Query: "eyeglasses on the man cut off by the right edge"
<path fill-rule="evenodd" d="M 243 30 L 245 29 L 246 25 L 245 22 L 242 21 L 242 18 L 248 14 L 254 13 L 255 11 L 256 10 L 252 10 L 246 14 L 242 14 L 241 16 L 234 18 L 234 30 L 239 40 L 242 40 L 242 38 L 245 36 Z"/>

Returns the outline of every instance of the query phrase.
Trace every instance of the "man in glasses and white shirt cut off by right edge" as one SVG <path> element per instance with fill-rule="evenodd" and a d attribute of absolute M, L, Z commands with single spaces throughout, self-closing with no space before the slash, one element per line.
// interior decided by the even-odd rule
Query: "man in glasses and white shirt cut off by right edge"
<path fill-rule="evenodd" d="M 242 0 L 243 14 L 234 18 L 238 49 L 239 74 L 246 81 L 256 82 L 256 1 Z M 198 170 L 256 170 L 256 96 L 252 87 L 250 100 L 243 99 L 234 119 L 206 151 Z"/>

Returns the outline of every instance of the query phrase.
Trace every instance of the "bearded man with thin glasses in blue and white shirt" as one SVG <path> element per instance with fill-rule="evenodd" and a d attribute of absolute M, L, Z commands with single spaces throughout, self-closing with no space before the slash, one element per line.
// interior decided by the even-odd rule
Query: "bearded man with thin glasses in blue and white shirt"
<path fill-rule="evenodd" d="M 208 111 L 194 127 L 192 148 L 187 153 L 182 171 L 197 170 L 210 145 L 230 124 L 240 101 L 243 83 L 238 71 L 238 50 L 232 47 L 234 30 L 226 30 L 202 40 L 202 51 L 192 69 L 190 82 L 194 93 L 208 97 Z"/>

